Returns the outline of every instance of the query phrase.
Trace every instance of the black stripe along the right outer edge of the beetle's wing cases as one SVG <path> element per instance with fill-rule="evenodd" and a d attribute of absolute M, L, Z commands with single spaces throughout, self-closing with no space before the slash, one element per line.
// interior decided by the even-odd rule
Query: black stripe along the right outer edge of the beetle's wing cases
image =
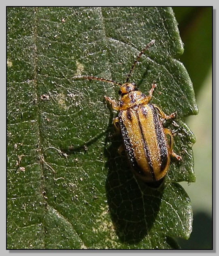
<path fill-rule="evenodd" d="M 162 127 L 162 124 L 160 123 L 155 107 L 151 104 L 149 104 L 149 107 L 153 112 L 153 123 L 155 126 L 157 144 L 158 144 L 158 148 L 160 151 L 160 158 L 161 158 L 160 172 L 162 172 L 166 168 L 166 165 L 168 162 L 168 148 L 166 147 L 165 134 L 163 132 L 163 127 Z"/>

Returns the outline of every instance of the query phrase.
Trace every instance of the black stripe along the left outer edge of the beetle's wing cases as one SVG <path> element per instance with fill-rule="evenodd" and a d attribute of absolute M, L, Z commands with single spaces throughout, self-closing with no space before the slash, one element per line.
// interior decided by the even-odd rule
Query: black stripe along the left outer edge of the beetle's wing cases
<path fill-rule="evenodd" d="M 128 136 L 128 131 L 125 128 L 125 125 L 123 123 L 122 112 L 123 111 L 119 112 L 119 116 L 118 117 L 119 117 L 120 129 L 121 129 L 121 133 L 122 133 L 122 137 L 123 137 L 123 143 L 125 145 L 125 150 L 126 150 L 126 153 L 128 155 L 129 162 L 130 162 L 133 170 L 136 173 L 138 173 L 140 176 L 144 177 L 145 176 L 145 172 L 142 171 L 142 169 L 138 165 L 138 162 L 136 161 L 134 150 L 132 148 L 132 144 L 131 144 L 129 136 Z"/>

